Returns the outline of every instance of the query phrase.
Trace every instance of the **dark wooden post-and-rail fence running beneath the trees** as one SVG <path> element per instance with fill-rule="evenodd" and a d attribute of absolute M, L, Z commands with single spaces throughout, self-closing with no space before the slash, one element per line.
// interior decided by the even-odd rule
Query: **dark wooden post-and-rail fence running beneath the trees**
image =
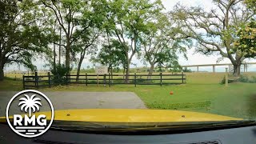
<path fill-rule="evenodd" d="M 104 85 L 113 86 L 118 84 L 127 85 L 172 85 L 172 84 L 183 84 L 186 83 L 186 74 L 129 74 L 126 82 L 126 74 L 75 74 L 66 75 L 64 78 L 65 84 L 76 83 L 88 85 Z M 55 78 L 56 80 L 56 78 Z M 51 87 L 58 82 L 55 82 L 54 76 L 40 75 L 35 72 L 34 76 L 23 76 L 23 88 L 40 88 L 40 87 Z"/>

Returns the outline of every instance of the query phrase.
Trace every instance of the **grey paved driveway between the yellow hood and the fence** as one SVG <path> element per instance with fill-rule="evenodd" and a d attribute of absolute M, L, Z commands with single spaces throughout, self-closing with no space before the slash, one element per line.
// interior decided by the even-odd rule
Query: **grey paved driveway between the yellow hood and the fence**
<path fill-rule="evenodd" d="M 10 98 L 18 92 L 0 91 L 0 116 L 5 116 Z M 64 109 L 146 109 L 132 92 L 43 92 L 54 105 L 54 110 Z M 17 110 L 19 110 L 17 106 Z M 41 110 L 40 110 L 41 111 Z M 10 112 L 10 113 L 15 113 Z"/>

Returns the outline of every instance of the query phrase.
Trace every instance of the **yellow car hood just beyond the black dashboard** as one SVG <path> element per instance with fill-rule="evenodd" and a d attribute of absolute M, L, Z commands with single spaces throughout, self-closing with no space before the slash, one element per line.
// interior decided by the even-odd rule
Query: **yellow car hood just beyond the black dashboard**
<path fill-rule="evenodd" d="M 40 112 L 50 118 L 51 112 Z M 10 117 L 11 118 L 11 117 Z M 54 120 L 76 122 L 215 122 L 242 120 L 181 110 L 82 109 L 55 110 Z"/>

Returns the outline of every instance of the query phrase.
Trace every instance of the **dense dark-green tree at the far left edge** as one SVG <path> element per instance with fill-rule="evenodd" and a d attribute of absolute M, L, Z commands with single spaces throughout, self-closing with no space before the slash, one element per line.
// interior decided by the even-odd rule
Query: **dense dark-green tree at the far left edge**
<path fill-rule="evenodd" d="M 41 29 L 40 14 L 30 9 L 33 6 L 30 0 L 0 1 L 0 81 L 4 66 L 16 62 L 34 70 L 36 53 L 48 51 L 47 34 Z"/>

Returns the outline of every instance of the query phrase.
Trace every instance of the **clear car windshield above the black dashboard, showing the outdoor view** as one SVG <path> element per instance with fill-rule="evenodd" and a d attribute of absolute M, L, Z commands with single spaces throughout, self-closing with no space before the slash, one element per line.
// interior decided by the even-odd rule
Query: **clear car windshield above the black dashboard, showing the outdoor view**
<path fill-rule="evenodd" d="M 256 120 L 250 0 L 1 0 L 0 6 L 0 117 L 14 94 L 38 90 L 52 102 L 58 126 Z M 45 106 L 26 98 L 14 100 L 20 107 L 9 110 L 11 117 L 32 118 Z"/>

